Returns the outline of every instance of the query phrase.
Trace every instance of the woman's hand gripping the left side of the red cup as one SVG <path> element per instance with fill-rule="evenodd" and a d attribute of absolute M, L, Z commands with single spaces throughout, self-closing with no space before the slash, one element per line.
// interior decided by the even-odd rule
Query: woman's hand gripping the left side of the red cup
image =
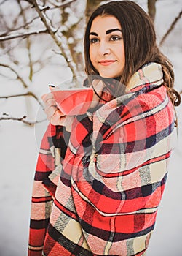
<path fill-rule="evenodd" d="M 67 132 L 71 132 L 72 123 L 74 121 L 74 116 L 64 116 L 63 113 L 58 109 L 55 99 L 51 92 L 44 94 L 41 99 L 44 101 L 44 112 L 47 115 L 47 119 L 53 125 L 61 125 L 66 127 Z"/>

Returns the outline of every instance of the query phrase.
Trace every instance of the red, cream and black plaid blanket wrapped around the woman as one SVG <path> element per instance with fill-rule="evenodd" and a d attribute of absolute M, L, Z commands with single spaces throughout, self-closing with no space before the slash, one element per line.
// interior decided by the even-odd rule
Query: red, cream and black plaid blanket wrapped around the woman
<path fill-rule="evenodd" d="M 173 105 L 151 63 L 71 134 L 49 125 L 33 183 L 28 255 L 145 255 L 167 178 Z"/>

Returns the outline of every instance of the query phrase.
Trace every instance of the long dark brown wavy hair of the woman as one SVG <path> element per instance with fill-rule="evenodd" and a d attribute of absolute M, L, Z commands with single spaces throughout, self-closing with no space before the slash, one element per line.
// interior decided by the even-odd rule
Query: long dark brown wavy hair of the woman
<path fill-rule="evenodd" d="M 132 75 L 143 65 L 150 62 L 161 64 L 163 71 L 164 85 L 167 88 L 174 106 L 180 105 L 181 96 L 174 86 L 173 65 L 170 60 L 159 50 L 156 42 L 154 24 L 149 15 L 134 1 L 110 1 L 100 5 L 88 20 L 84 34 L 84 61 L 87 75 L 99 75 L 90 61 L 90 28 L 92 21 L 102 15 L 112 15 L 119 20 L 122 27 L 124 40 L 125 64 L 121 84 L 127 86 Z M 117 89 L 116 94 L 119 96 Z"/>

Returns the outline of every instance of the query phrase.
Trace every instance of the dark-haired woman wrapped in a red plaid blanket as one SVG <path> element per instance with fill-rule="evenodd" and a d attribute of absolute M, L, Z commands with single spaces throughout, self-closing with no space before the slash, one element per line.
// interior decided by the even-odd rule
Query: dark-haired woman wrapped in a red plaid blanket
<path fill-rule="evenodd" d="M 171 153 L 173 66 L 149 16 L 132 1 L 92 13 L 84 37 L 84 115 L 63 116 L 44 95 L 50 125 L 33 184 L 28 255 L 145 255 Z"/>

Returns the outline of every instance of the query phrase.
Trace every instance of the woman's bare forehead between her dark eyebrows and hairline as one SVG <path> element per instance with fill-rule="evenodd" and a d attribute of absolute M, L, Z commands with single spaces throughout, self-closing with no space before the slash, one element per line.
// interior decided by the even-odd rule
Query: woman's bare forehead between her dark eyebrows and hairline
<path fill-rule="evenodd" d="M 90 31 L 106 31 L 108 29 L 122 29 L 119 20 L 112 15 L 99 15 L 92 21 Z"/>

